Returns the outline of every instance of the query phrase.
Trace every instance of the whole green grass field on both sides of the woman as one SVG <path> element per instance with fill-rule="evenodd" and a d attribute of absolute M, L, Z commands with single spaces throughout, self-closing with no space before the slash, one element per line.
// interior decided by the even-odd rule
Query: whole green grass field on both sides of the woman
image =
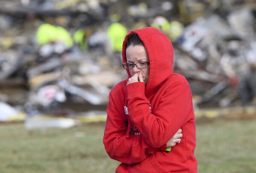
<path fill-rule="evenodd" d="M 104 123 L 60 130 L 0 124 L 0 173 L 114 173 Z M 199 173 L 256 173 L 256 119 L 197 123 Z"/>

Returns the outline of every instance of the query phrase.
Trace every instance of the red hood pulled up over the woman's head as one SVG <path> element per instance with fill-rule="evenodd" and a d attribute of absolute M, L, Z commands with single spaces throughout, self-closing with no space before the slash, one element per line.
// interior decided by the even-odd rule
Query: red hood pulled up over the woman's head
<path fill-rule="evenodd" d="M 143 42 L 150 61 L 150 73 L 145 88 L 145 95 L 153 94 L 159 85 L 173 73 L 173 47 L 169 38 L 157 28 L 148 27 L 131 31 L 124 39 L 122 57 L 126 62 L 126 42 L 131 34 L 137 34 Z M 128 78 L 131 77 L 127 70 Z"/>

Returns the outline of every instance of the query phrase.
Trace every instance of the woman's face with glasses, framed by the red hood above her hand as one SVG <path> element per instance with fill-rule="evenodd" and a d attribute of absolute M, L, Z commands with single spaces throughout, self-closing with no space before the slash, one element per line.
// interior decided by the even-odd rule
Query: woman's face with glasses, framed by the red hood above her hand
<path fill-rule="evenodd" d="M 127 63 L 135 64 L 137 62 L 147 62 L 149 61 L 147 56 L 146 48 L 143 45 L 129 45 L 126 49 L 126 59 Z M 146 68 L 137 68 L 136 65 L 129 70 L 131 76 L 136 73 L 140 73 L 143 76 L 143 81 L 147 84 L 149 77 L 149 66 Z"/>

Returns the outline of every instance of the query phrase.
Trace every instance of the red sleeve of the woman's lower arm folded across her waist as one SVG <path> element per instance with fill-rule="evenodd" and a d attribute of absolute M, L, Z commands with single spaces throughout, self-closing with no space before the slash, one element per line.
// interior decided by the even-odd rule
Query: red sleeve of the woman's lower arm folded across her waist
<path fill-rule="evenodd" d="M 142 135 L 127 135 L 126 117 L 118 111 L 111 93 L 107 114 L 103 143 L 110 158 L 133 164 L 141 162 L 157 150 L 165 150 L 166 144 L 156 149 L 147 145 Z"/>

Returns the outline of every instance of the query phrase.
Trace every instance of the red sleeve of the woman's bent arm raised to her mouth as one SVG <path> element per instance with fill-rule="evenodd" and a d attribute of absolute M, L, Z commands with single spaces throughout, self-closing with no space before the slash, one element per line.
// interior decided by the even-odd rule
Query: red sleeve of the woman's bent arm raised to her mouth
<path fill-rule="evenodd" d="M 153 148 L 166 144 L 193 110 L 190 88 L 185 81 L 178 81 L 165 91 L 153 114 L 144 94 L 144 83 L 134 82 L 126 87 L 129 117 Z"/>

